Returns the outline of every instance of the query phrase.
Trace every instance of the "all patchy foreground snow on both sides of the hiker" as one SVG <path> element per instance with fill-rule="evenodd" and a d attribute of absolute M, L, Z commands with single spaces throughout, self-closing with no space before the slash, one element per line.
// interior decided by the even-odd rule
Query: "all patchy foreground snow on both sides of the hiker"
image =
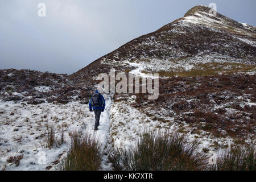
<path fill-rule="evenodd" d="M 199 138 L 201 141 L 199 150 L 208 148 L 217 152 L 216 144 L 230 146 L 230 138 L 214 138 L 204 133 L 201 135 L 189 134 L 191 128 L 186 123 L 162 122 L 154 119 L 130 104 L 135 97 L 128 101 L 113 102 L 111 96 L 106 98 L 106 109 L 101 115 L 98 131 L 94 128 L 94 113 L 89 111 L 88 105 L 80 102 L 68 104 L 27 105 L 23 102 L 15 103 L 0 101 L 0 170 L 57 170 L 59 160 L 65 158 L 65 150 L 70 142 L 69 133 L 79 131 L 89 133 L 101 140 L 102 149 L 114 144 L 115 147 L 129 147 L 137 142 L 143 130 L 154 133 L 167 131 L 171 133 L 180 128 L 188 131 L 189 139 Z M 47 125 L 56 129 L 56 146 L 47 148 Z M 62 126 L 64 128 L 64 144 L 58 144 Z M 186 132 L 185 132 L 186 133 Z M 42 162 L 42 156 L 46 155 L 46 163 Z M 7 163 L 10 156 L 23 155 L 19 166 Z M 56 163 L 57 162 L 57 163 Z M 104 156 L 102 170 L 111 170 L 108 155 Z"/>

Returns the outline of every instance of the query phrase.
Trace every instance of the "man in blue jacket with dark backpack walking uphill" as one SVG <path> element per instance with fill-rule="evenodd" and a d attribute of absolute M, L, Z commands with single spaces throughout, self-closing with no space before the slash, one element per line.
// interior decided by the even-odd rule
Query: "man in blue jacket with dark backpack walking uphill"
<path fill-rule="evenodd" d="M 104 97 L 98 93 L 98 90 L 93 94 L 92 98 L 89 101 L 89 109 L 90 111 L 94 111 L 95 114 L 95 125 L 94 130 L 98 130 L 98 126 L 100 125 L 100 117 L 101 112 L 105 110 L 105 99 Z M 93 109 L 93 110 L 92 110 Z"/>

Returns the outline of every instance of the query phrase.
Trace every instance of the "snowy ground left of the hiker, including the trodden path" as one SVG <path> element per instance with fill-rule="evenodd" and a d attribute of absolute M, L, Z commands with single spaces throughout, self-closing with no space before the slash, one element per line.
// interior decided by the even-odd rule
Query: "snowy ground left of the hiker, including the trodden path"
<path fill-rule="evenodd" d="M 109 114 L 111 99 L 106 97 L 106 110 L 102 113 L 99 130 L 94 132 L 94 114 L 88 105 L 70 102 L 66 105 L 43 103 L 26 105 L 0 101 L 0 170 L 46 170 L 61 158 L 70 142 L 69 133 L 82 131 L 100 138 L 102 148 L 109 139 Z M 56 144 L 47 148 L 47 125 L 56 129 L 56 141 L 60 141 L 62 126 L 64 128 L 64 144 Z M 46 155 L 46 163 L 43 156 Z M 19 166 L 7 163 L 10 156 L 23 155 Z M 43 162 L 42 162 L 43 161 Z M 42 164 L 43 163 L 43 164 Z M 102 163 L 102 169 L 110 169 L 107 156 Z"/>

